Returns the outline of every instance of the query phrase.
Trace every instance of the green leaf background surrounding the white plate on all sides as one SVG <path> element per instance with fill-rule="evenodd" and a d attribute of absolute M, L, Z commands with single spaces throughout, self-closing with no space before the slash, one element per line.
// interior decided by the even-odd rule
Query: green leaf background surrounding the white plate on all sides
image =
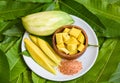
<path fill-rule="evenodd" d="M 25 29 L 21 17 L 51 10 L 82 18 L 97 34 L 98 58 L 82 77 L 50 81 L 32 72 L 22 58 L 20 46 Z M 119 31 L 120 0 L 0 0 L 0 83 L 119 83 Z"/>

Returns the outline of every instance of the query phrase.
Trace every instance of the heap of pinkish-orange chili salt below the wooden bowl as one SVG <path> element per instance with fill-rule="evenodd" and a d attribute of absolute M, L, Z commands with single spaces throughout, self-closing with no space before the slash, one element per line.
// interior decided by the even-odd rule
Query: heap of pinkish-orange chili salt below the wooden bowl
<path fill-rule="evenodd" d="M 82 69 L 82 63 L 77 60 L 63 60 L 59 66 L 61 73 L 65 75 L 73 75 Z"/>

